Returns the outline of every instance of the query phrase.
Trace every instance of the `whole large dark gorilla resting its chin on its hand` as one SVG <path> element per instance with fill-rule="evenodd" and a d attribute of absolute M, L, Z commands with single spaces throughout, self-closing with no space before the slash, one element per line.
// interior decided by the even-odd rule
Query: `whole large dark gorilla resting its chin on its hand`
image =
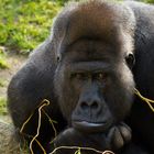
<path fill-rule="evenodd" d="M 154 99 L 153 52 L 153 6 L 102 0 L 67 4 L 57 15 L 52 35 L 9 85 L 8 108 L 16 135 L 32 140 L 38 124 L 36 109 L 48 99 L 51 105 L 44 111 L 57 121 L 58 135 L 54 139 L 42 112 L 37 141 L 46 153 L 53 150 L 50 142 L 54 139 L 55 146 L 153 154 L 154 113 L 134 97 L 136 87 Z M 33 148 L 42 153 L 35 142 Z"/>

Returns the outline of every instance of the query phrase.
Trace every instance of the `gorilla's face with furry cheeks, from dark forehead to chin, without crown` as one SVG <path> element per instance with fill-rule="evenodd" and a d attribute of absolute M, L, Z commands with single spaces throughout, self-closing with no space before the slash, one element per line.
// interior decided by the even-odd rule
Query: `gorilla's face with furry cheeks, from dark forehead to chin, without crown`
<path fill-rule="evenodd" d="M 120 46 L 84 38 L 72 44 L 59 62 L 55 88 L 62 112 L 74 128 L 106 131 L 128 114 L 133 77 Z"/>

